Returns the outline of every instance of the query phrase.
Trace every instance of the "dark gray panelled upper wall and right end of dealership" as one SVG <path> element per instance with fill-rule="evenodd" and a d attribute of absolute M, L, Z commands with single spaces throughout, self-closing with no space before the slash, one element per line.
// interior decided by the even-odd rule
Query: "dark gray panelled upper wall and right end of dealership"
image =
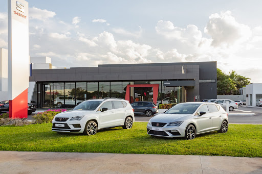
<path fill-rule="evenodd" d="M 70 69 L 35 69 L 29 81 L 36 82 L 87 82 L 87 81 L 166 81 L 195 80 L 195 86 L 186 87 L 187 102 L 216 98 L 215 83 L 199 83 L 200 79 L 216 80 L 216 62 L 180 62 L 150 64 L 112 64 L 98 67 Z"/>

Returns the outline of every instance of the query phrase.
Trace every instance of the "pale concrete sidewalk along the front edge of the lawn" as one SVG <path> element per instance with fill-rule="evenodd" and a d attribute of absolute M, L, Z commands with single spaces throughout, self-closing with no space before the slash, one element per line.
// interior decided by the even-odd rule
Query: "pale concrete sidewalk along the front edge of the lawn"
<path fill-rule="evenodd" d="M 0 151 L 0 173 L 262 173 L 262 158 Z"/>

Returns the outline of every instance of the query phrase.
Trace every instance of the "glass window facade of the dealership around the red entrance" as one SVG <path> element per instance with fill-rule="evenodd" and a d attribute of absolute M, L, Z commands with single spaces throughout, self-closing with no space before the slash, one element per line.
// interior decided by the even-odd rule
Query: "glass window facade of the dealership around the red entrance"
<path fill-rule="evenodd" d="M 35 85 L 32 101 L 37 108 L 73 108 L 91 98 L 125 98 L 127 85 L 159 84 L 158 103 L 186 102 L 184 86 L 167 87 L 163 81 L 135 82 L 59 82 L 39 83 Z M 153 87 L 130 87 L 130 103 L 135 101 L 153 101 Z M 162 102 L 161 102 L 162 101 Z"/>

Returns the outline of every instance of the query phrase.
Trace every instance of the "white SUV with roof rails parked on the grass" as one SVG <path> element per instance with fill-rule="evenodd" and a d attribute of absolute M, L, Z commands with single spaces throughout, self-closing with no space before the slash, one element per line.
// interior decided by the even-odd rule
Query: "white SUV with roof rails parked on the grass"
<path fill-rule="evenodd" d="M 121 99 L 97 99 L 84 101 L 71 111 L 57 114 L 52 131 L 95 135 L 103 128 L 122 126 L 131 129 L 135 121 L 134 109 Z"/>

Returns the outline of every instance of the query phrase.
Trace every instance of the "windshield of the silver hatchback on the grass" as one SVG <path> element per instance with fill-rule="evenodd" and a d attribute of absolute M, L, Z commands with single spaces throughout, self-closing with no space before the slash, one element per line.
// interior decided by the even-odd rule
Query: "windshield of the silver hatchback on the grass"
<path fill-rule="evenodd" d="M 200 104 L 178 104 L 165 112 L 165 114 L 192 114 Z"/>

